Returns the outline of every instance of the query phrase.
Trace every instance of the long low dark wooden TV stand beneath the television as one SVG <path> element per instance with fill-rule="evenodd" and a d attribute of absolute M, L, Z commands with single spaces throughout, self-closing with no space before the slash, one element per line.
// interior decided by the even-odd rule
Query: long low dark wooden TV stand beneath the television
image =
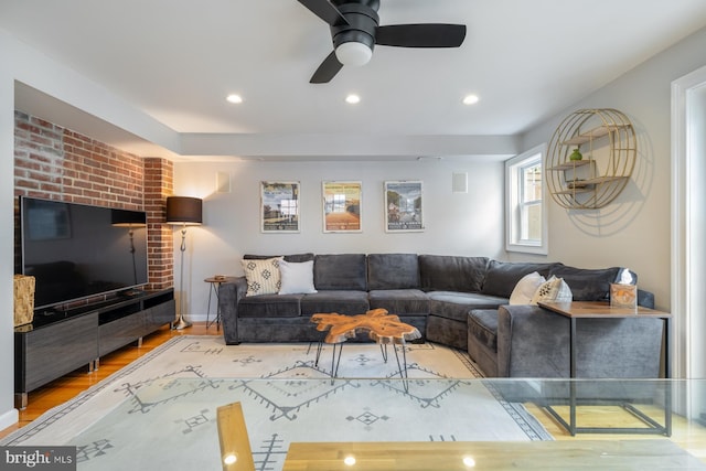
<path fill-rule="evenodd" d="M 14 328 L 15 407 L 26 407 L 29 392 L 85 365 L 94 371 L 100 356 L 141 341 L 174 318 L 171 288 L 35 314 L 32 323 Z"/>

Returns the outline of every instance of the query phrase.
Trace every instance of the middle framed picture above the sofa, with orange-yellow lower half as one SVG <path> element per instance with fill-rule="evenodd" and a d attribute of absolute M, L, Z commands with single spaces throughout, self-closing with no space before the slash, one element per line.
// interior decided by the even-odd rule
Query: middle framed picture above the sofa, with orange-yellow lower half
<path fill-rule="evenodd" d="M 323 182 L 322 195 L 324 233 L 360 233 L 363 231 L 362 182 Z"/>

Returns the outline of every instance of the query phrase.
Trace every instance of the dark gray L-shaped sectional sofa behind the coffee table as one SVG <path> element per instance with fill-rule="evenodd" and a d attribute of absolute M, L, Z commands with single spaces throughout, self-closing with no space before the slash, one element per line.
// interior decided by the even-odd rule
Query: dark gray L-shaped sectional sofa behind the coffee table
<path fill-rule="evenodd" d="M 621 270 L 417 254 L 298 254 L 285 259 L 314 261 L 317 292 L 245 296 L 245 277 L 228 279 L 218 290 L 227 344 L 318 341 L 323 334 L 310 321 L 312 314 L 384 308 L 419 329 L 427 341 L 468 350 L 488 376 L 503 377 L 568 376 L 568 319 L 537 306 L 509 306 L 522 277 L 555 275 L 567 282 L 574 300 L 601 301 L 608 300 Z M 652 308 L 654 297 L 640 291 L 638 302 Z M 656 377 L 662 328 L 659 319 L 580 322 L 578 347 L 582 355 L 597 356 L 579 362 L 579 376 Z"/>

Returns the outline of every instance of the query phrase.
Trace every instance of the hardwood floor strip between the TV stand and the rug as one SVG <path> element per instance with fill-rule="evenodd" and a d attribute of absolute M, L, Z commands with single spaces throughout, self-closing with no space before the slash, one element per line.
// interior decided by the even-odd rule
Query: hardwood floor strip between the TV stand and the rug
<path fill-rule="evenodd" d="M 31 392 L 28 407 L 20 410 L 19 422 L 1 430 L 0 438 L 24 427 L 49 409 L 72 399 L 152 349 L 167 342 L 172 336 L 178 335 L 222 335 L 222 331 L 216 330 L 215 325 L 206 329 L 205 322 L 195 322 L 192 327 L 183 330 L 171 330 L 165 325 L 151 335 L 143 338 L 141 346 L 137 346 L 137 343 L 133 343 L 101 357 L 98 370 L 93 373 L 88 373 L 88 367 L 86 366 Z"/>

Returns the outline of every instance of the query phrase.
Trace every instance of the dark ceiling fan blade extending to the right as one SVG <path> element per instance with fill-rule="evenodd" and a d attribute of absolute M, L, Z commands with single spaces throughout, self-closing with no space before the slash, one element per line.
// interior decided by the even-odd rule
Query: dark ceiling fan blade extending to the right
<path fill-rule="evenodd" d="M 458 47 L 464 39 L 464 24 L 391 24 L 375 32 L 376 44 L 399 47 Z"/>

